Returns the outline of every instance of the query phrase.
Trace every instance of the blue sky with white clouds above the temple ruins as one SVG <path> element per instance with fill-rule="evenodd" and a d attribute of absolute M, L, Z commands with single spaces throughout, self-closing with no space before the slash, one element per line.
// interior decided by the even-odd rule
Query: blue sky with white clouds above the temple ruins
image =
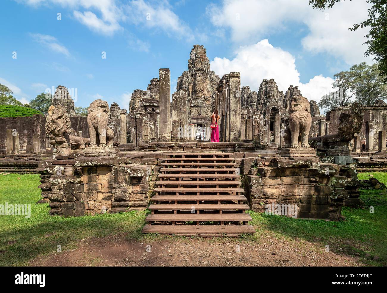
<path fill-rule="evenodd" d="M 64 85 L 77 89 L 75 106 L 103 98 L 127 109 L 159 68 L 170 68 L 173 92 L 202 44 L 220 76 L 240 71 L 252 90 L 274 78 L 280 90 L 300 85 L 318 101 L 335 73 L 372 62 L 363 56 L 366 31 L 348 31 L 366 18 L 364 2 L 317 11 L 308 0 L 5 0 L 0 83 L 22 102 Z"/>

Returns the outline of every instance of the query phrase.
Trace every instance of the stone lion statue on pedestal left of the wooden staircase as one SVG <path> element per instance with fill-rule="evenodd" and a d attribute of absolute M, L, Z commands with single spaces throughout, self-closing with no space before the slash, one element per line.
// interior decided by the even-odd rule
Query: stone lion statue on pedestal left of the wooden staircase
<path fill-rule="evenodd" d="M 110 115 L 109 104 L 101 99 L 95 100 L 87 110 L 87 125 L 89 126 L 89 148 L 113 148 L 114 132 L 108 127 Z"/>

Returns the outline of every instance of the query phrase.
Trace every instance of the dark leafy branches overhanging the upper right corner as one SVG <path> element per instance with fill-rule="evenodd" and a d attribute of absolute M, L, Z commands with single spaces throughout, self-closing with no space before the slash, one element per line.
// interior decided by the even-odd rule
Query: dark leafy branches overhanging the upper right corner
<path fill-rule="evenodd" d="M 341 0 L 309 0 L 309 5 L 315 9 L 331 8 Z M 344 0 L 342 0 L 344 1 Z M 368 19 L 360 24 L 354 24 L 349 29 L 356 31 L 359 27 L 370 27 L 370 31 L 365 37 L 368 49 L 365 56 L 372 56 L 377 62 L 380 76 L 387 82 L 387 1 L 386 0 L 366 0 L 372 7 L 368 9 Z"/>

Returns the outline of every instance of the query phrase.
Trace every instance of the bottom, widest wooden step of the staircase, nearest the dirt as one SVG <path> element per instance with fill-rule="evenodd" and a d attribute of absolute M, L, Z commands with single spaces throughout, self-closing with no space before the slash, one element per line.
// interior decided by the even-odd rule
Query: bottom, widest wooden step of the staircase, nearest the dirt
<path fill-rule="evenodd" d="M 252 234 L 255 229 L 251 225 L 145 225 L 141 232 L 212 237 Z"/>

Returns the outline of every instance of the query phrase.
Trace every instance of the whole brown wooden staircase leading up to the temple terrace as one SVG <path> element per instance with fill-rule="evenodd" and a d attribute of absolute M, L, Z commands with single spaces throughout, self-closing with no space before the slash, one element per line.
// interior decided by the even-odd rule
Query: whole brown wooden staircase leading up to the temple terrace
<path fill-rule="evenodd" d="M 232 153 L 165 153 L 142 233 L 238 236 L 255 233 Z"/>

